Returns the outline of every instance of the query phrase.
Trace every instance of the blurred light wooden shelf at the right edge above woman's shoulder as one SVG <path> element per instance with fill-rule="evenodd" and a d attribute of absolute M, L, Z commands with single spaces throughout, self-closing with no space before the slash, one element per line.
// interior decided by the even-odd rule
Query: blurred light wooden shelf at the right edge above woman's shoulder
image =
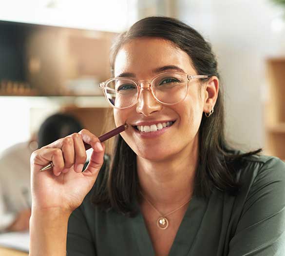
<path fill-rule="evenodd" d="M 285 57 L 266 60 L 266 153 L 285 159 Z"/>

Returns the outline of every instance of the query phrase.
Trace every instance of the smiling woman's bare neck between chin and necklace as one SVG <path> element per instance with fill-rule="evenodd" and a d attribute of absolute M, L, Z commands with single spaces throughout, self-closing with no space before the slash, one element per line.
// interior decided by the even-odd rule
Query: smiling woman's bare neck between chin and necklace
<path fill-rule="evenodd" d="M 190 199 L 198 167 L 198 139 L 178 154 L 163 161 L 137 156 L 141 192 L 158 209 L 168 211 Z"/>

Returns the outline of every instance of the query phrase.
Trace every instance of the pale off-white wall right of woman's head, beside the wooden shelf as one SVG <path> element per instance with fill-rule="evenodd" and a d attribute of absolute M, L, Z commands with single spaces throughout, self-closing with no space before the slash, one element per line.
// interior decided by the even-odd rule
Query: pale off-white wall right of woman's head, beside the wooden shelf
<path fill-rule="evenodd" d="M 179 0 L 179 19 L 212 43 L 224 80 L 226 131 L 244 149 L 265 145 L 265 59 L 279 54 L 269 0 Z"/>

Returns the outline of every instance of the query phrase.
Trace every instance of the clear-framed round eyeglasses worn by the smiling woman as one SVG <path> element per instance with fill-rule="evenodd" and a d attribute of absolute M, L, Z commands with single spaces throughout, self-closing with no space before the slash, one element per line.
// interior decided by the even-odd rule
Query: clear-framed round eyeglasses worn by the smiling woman
<path fill-rule="evenodd" d="M 111 78 L 99 83 L 99 87 L 103 90 L 109 104 L 115 109 L 133 107 L 144 89 L 149 90 L 152 97 L 159 103 L 174 105 L 186 98 L 190 80 L 208 77 L 183 72 L 165 72 L 156 75 L 151 80 Z"/>

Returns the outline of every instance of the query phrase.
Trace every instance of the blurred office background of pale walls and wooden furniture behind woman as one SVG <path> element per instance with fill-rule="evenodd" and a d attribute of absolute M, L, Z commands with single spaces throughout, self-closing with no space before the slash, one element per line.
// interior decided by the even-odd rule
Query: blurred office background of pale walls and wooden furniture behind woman
<path fill-rule="evenodd" d="M 49 115 L 76 115 L 95 135 L 109 109 L 114 37 L 152 15 L 208 39 L 225 91 L 226 134 L 285 159 L 285 5 L 274 0 L 0 0 L 0 153 Z M 110 121 L 111 122 L 111 121 Z"/>

